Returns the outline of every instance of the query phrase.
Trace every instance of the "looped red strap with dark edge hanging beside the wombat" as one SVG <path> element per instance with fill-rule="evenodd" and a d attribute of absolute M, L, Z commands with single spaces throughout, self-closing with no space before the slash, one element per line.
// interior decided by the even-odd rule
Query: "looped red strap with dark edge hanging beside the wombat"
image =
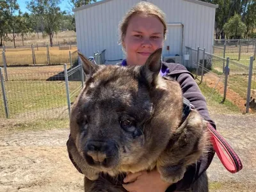
<path fill-rule="evenodd" d="M 211 132 L 211 142 L 218 155 L 221 163 L 230 173 L 237 173 L 243 168 L 243 164 L 233 148 L 227 143 L 227 141 L 218 133 L 211 124 L 207 124 L 209 131 Z M 223 151 L 223 147 L 225 152 Z"/>

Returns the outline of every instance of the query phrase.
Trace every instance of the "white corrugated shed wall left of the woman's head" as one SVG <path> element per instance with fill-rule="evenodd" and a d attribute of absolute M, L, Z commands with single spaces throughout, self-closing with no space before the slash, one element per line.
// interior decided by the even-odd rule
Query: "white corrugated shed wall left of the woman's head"
<path fill-rule="evenodd" d="M 76 12 L 77 46 L 85 56 L 106 49 L 107 60 L 123 58 L 118 45 L 118 24 L 139 0 L 113 0 Z"/>

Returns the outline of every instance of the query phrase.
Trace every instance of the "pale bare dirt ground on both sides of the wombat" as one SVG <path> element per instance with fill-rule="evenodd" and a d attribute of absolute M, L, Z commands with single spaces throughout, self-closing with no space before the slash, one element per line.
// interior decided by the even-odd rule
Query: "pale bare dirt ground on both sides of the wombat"
<path fill-rule="evenodd" d="M 255 191 L 255 115 L 212 114 L 218 131 L 243 161 L 229 173 L 214 157 L 208 175 L 210 191 Z M 5 128 L 6 129 L 6 128 Z M 68 159 L 68 129 L 10 132 L 0 130 L 0 191 L 83 191 L 83 175 Z"/>

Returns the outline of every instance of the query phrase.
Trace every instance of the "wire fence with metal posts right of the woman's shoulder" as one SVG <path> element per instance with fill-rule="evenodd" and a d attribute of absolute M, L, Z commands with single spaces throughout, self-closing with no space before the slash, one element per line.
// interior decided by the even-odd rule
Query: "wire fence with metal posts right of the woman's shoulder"
<path fill-rule="evenodd" d="M 189 54 L 188 68 L 193 71 L 207 100 L 215 97 L 215 100 L 232 102 L 241 111 L 248 112 L 244 104 L 250 100 L 250 96 L 255 97 L 256 71 L 250 69 L 253 57 L 250 58 L 251 62 L 248 61 L 248 65 L 243 65 L 230 58 L 205 52 L 199 47 L 198 49 L 186 47 L 186 53 Z"/>

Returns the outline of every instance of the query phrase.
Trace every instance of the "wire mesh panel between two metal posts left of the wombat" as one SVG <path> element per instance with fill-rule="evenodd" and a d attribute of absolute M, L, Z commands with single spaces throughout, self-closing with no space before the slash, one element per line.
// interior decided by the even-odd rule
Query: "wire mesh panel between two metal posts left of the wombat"
<path fill-rule="evenodd" d="M 67 95 L 63 65 L 51 67 L 13 67 L 5 81 L 10 118 L 31 120 L 67 116 Z M 1 106 L 3 99 L 1 99 Z M 0 118 L 5 115 L 2 112 Z"/>

